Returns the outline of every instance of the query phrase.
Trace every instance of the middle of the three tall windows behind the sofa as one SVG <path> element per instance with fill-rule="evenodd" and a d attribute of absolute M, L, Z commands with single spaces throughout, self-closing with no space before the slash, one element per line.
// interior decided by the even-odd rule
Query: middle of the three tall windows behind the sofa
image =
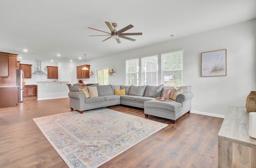
<path fill-rule="evenodd" d="M 158 85 L 158 55 L 141 58 L 142 84 Z"/>

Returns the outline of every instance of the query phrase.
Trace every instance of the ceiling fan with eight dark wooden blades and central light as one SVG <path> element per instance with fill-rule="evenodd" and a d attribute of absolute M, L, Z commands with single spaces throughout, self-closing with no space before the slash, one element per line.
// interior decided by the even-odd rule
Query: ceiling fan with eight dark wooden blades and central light
<path fill-rule="evenodd" d="M 126 36 L 135 36 L 135 35 L 142 35 L 142 33 L 123 33 L 125 32 L 126 30 L 129 30 L 130 28 L 133 28 L 134 26 L 132 26 L 131 24 L 126 26 L 125 28 L 122 28 L 121 30 L 116 30 L 116 27 L 117 27 L 117 23 L 112 23 L 112 26 L 114 27 L 114 29 L 112 28 L 111 24 L 109 22 L 105 22 L 106 25 L 108 26 L 109 30 L 111 33 L 109 32 L 104 32 L 102 30 L 98 30 L 98 29 L 95 29 L 95 28 L 89 28 L 89 29 L 92 29 L 92 30 L 97 30 L 97 31 L 100 31 L 100 32 L 104 32 L 104 33 L 107 33 L 106 35 L 92 35 L 92 36 L 110 36 L 108 38 L 106 38 L 105 40 L 102 40 L 102 42 L 110 39 L 110 38 L 114 38 L 116 39 L 117 43 L 120 44 L 121 41 L 119 38 L 124 38 L 126 40 L 131 40 L 131 41 L 135 41 L 135 39 L 133 38 L 129 38 L 129 37 L 126 37 Z"/>

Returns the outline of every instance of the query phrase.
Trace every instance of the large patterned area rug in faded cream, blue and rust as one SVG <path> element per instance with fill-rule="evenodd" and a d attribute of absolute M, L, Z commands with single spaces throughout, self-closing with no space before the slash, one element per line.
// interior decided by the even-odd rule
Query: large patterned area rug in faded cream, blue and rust
<path fill-rule="evenodd" d="M 69 167 L 98 167 L 167 124 L 107 108 L 34 118 Z"/>

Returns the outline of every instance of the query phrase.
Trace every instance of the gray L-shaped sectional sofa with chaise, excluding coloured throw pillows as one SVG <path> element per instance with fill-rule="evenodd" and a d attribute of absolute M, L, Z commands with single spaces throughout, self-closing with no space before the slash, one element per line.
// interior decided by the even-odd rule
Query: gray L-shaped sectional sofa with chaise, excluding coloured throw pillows
<path fill-rule="evenodd" d="M 162 97 L 164 88 L 160 86 L 124 86 L 124 85 L 92 85 L 88 87 L 97 87 L 98 97 L 84 98 L 82 92 L 78 92 L 78 88 L 82 89 L 84 86 L 71 86 L 68 85 L 70 92 L 68 96 L 70 98 L 71 110 L 79 110 L 82 114 L 85 110 L 94 108 L 101 108 L 113 105 L 127 105 L 138 108 L 144 108 L 145 116 L 149 115 L 168 118 L 175 123 L 183 114 L 190 112 L 191 99 L 193 94 L 191 93 L 191 86 L 180 86 L 177 88 L 183 88 L 181 94 L 177 96 L 177 101 L 158 101 L 157 97 Z M 121 90 L 125 88 L 125 95 L 115 95 L 114 89 Z"/>

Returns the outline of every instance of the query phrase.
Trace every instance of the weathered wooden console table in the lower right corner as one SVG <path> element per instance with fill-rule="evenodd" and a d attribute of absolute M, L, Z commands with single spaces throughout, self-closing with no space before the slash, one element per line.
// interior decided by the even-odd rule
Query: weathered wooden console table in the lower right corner
<path fill-rule="evenodd" d="M 218 167 L 256 167 L 256 140 L 249 135 L 249 112 L 245 107 L 228 107 L 218 134 Z"/>

